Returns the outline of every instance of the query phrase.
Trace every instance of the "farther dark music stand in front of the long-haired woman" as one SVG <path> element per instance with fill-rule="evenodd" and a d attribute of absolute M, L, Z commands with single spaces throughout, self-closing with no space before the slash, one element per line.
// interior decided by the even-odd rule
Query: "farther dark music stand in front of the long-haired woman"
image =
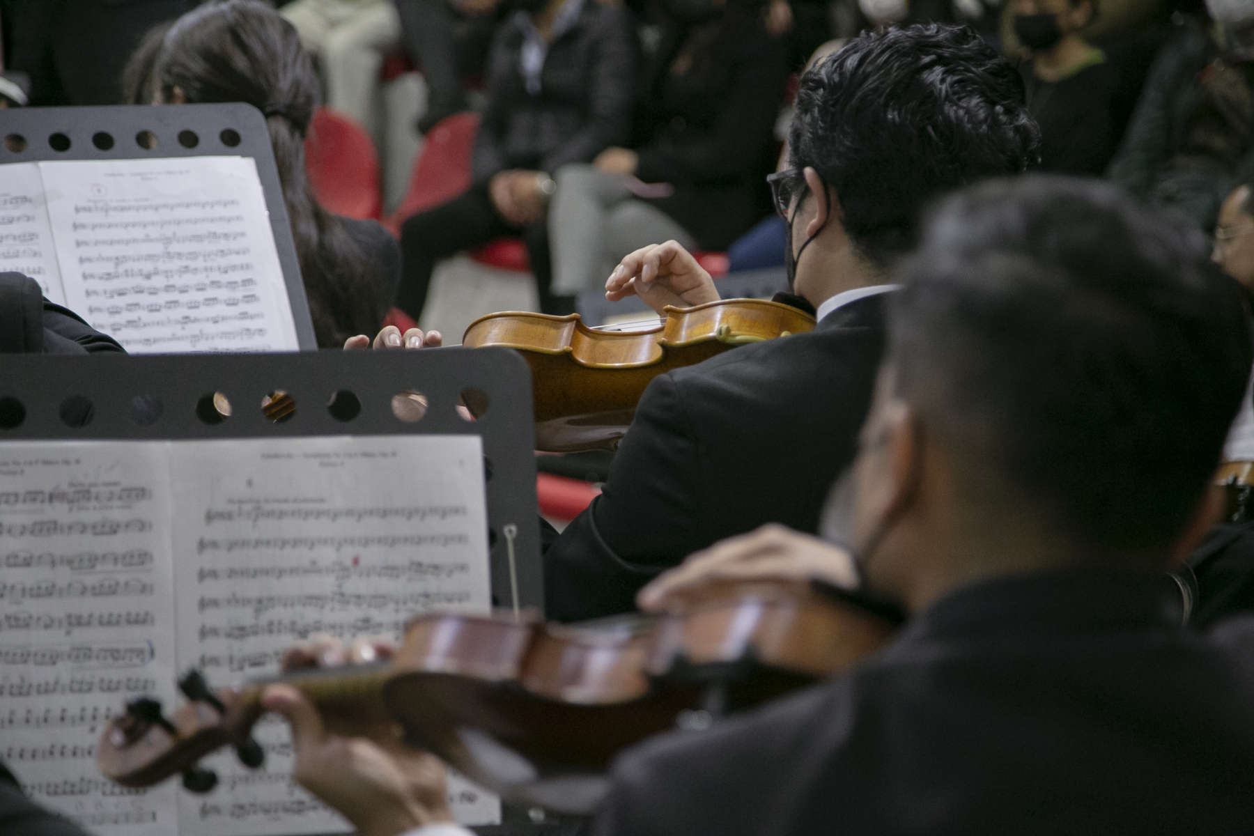
<path fill-rule="evenodd" d="M 0 164 L 58 159 L 252 157 L 302 350 L 316 348 L 266 118 L 251 104 L 15 108 L 0 112 Z"/>

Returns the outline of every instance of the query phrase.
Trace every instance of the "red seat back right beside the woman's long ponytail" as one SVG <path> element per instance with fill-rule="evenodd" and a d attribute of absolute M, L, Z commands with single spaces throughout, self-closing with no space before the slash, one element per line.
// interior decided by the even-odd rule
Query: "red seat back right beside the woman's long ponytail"
<path fill-rule="evenodd" d="M 305 170 L 317 202 L 350 218 L 377 219 L 382 213 L 379 154 L 361 125 L 344 114 L 319 108 L 305 137 Z"/>

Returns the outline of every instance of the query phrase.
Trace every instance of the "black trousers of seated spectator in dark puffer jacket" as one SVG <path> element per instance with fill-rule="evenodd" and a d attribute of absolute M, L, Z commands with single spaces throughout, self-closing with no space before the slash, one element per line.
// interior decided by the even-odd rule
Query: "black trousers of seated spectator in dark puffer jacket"
<path fill-rule="evenodd" d="M 532 273 L 535 274 L 540 306 L 548 310 L 545 300 L 552 276 L 548 227 L 543 218 L 528 227 L 508 223 L 497 214 L 487 183 L 472 185 L 448 203 L 415 214 L 401 227 L 405 277 L 396 295 L 396 307 L 416 320 L 426 305 L 438 261 L 504 236 L 522 236 Z"/>

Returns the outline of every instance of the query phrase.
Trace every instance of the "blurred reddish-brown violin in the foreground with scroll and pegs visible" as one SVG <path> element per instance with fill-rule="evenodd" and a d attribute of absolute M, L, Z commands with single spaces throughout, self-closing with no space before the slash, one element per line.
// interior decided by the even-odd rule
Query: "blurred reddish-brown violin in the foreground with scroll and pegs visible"
<path fill-rule="evenodd" d="M 406 743 L 508 801 L 588 813 L 623 748 L 841 673 L 899 620 L 892 608 L 796 582 L 717 584 L 658 617 L 576 625 L 425 614 L 389 662 L 218 691 L 189 673 L 179 682 L 189 702 L 168 719 L 144 698 L 110 721 L 97 763 L 123 786 L 182 772 L 188 790 L 207 792 L 216 777 L 197 762 L 218 748 L 261 766 L 250 732 L 265 687 L 283 682 L 334 733 L 395 739 L 399 726 Z"/>

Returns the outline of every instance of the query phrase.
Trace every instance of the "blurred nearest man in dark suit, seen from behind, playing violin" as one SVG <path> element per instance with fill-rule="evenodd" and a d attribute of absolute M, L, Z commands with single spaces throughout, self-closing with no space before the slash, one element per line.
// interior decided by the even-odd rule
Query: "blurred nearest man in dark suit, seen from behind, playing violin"
<path fill-rule="evenodd" d="M 641 595 L 816 577 L 905 625 L 845 676 L 630 751 L 594 832 L 1248 832 L 1254 620 L 1186 628 L 1164 578 L 1214 516 L 1250 371 L 1239 291 L 1208 256 L 1099 183 L 946 202 L 897 271 L 849 548 L 771 526 Z M 267 701 L 302 782 L 342 800 L 366 770 L 298 694 Z M 410 781 L 371 786 L 415 828 L 362 810 L 361 831 L 464 836 L 439 780 Z"/>

